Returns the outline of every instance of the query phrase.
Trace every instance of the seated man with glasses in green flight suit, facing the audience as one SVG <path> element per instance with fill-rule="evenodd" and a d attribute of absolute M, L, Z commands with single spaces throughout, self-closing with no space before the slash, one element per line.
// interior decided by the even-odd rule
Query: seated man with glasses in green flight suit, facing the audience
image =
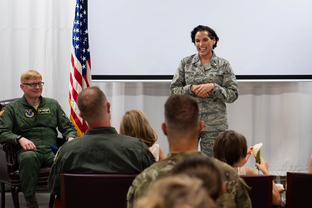
<path fill-rule="evenodd" d="M 22 191 L 27 207 L 39 207 L 35 196 L 39 169 L 53 164 L 57 130 L 66 140 L 77 137 L 74 124 L 55 99 L 44 98 L 42 76 L 28 70 L 21 76 L 24 96 L 0 111 L 0 143 L 17 148 L 17 162 Z"/>

